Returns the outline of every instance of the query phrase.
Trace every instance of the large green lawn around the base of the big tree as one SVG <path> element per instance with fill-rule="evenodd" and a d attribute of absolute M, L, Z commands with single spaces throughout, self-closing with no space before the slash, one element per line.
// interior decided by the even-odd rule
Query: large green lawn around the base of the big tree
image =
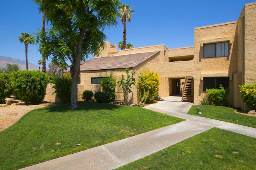
<path fill-rule="evenodd" d="M 32 110 L 0 133 L 0 169 L 18 169 L 184 119 L 140 107 L 80 102 Z M 80 146 L 69 146 L 80 144 Z"/>

